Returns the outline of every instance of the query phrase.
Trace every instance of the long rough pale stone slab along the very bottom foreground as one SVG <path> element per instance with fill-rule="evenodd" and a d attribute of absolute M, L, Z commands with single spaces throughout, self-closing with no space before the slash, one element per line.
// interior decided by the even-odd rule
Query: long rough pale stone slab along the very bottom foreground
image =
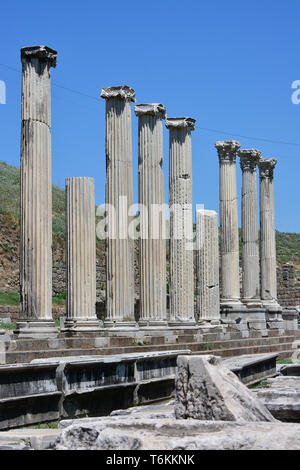
<path fill-rule="evenodd" d="M 297 450 L 300 425 L 109 417 L 63 429 L 56 449 Z"/>

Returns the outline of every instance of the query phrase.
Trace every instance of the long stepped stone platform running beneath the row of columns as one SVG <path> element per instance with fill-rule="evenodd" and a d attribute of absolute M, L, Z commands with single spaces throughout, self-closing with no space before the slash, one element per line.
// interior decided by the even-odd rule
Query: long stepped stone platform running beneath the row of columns
<path fill-rule="evenodd" d="M 259 331 L 232 330 L 228 325 L 197 327 L 103 328 L 97 334 L 56 338 L 27 339 L 14 335 L 0 336 L 0 363 L 27 363 L 33 359 L 66 356 L 107 356 L 134 352 L 189 349 L 192 354 L 215 354 L 224 358 L 244 354 L 278 353 L 281 359 L 295 352 L 300 331 L 269 330 L 264 337 Z"/>

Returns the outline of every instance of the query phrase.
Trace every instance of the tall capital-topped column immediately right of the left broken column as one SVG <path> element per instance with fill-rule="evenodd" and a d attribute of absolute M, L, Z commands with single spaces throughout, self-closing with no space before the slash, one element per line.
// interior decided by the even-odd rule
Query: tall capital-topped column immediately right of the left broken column
<path fill-rule="evenodd" d="M 106 326 L 134 321 L 133 240 L 128 237 L 133 204 L 131 102 L 128 86 L 103 88 L 106 100 Z"/>

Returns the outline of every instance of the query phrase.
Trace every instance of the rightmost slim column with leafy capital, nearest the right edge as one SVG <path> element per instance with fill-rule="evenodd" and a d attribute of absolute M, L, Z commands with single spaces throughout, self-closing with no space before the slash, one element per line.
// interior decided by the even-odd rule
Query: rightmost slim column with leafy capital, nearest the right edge
<path fill-rule="evenodd" d="M 268 158 L 261 160 L 258 164 L 260 180 L 261 299 L 263 306 L 267 310 L 267 319 L 270 320 L 281 320 L 281 307 L 277 302 L 276 282 L 273 186 L 276 163 L 277 160 L 275 158 Z"/>

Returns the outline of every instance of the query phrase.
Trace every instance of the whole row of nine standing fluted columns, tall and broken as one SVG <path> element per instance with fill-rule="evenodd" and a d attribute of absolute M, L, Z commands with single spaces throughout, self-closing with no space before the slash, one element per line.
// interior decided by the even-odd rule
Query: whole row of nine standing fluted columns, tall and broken
<path fill-rule="evenodd" d="M 57 334 L 51 311 L 51 89 L 56 51 L 21 50 L 21 314 L 17 334 Z M 195 119 L 167 117 L 158 103 L 136 104 L 139 120 L 139 312 L 134 312 L 131 103 L 128 86 L 103 88 L 106 102 L 106 318 L 105 329 L 196 327 L 196 321 L 268 335 L 284 331 L 277 301 L 273 178 L 275 159 L 239 142 L 218 141 L 220 163 L 220 281 L 217 214 L 196 214 L 194 286 L 192 145 Z M 166 302 L 163 128 L 170 134 L 170 275 Z M 242 289 L 239 277 L 236 158 L 242 169 Z M 256 188 L 260 176 L 260 240 Z M 96 332 L 95 220 L 91 178 L 67 178 L 67 312 L 63 330 Z M 260 248 L 259 248 L 260 246 Z M 242 291 L 242 295 L 241 295 Z M 196 293 L 196 302 L 194 299 Z"/>

